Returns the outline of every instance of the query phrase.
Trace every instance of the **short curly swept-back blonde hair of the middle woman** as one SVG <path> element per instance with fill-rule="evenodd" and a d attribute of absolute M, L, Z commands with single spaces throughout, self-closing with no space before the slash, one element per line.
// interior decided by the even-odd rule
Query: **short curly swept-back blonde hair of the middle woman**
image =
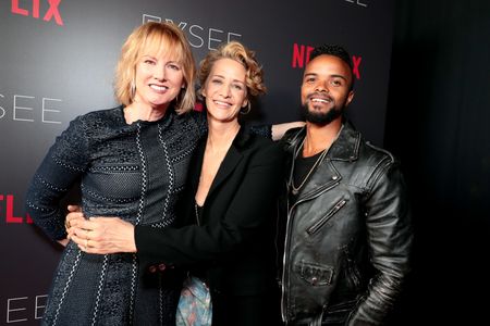
<path fill-rule="evenodd" d="M 212 66 L 220 59 L 231 59 L 243 64 L 246 71 L 245 85 L 247 87 L 248 111 L 250 111 L 250 98 L 256 98 L 267 91 L 264 84 L 264 72 L 255 52 L 247 49 L 237 41 L 231 41 L 222 45 L 217 50 L 208 52 L 205 59 L 200 61 L 198 79 L 200 84 L 199 95 L 203 93 L 206 80 L 211 73 Z M 248 113 L 248 111 L 246 113 Z"/>

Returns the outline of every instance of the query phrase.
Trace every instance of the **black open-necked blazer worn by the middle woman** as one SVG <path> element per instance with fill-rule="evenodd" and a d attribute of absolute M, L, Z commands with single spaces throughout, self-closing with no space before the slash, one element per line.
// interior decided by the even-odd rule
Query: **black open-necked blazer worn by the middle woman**
<path fill-rule="evenodd" d="M 209 189 L 198 226 L 194 197 L 206 138 L 189 165 L 183 215 L 177 216 L 184 226 L 136 226 L 140 264 L 198 266 L 211 293 L 259 294 L 275 276 L 273 225 L 284 153 L 273 141 L 242 128 Z"/>

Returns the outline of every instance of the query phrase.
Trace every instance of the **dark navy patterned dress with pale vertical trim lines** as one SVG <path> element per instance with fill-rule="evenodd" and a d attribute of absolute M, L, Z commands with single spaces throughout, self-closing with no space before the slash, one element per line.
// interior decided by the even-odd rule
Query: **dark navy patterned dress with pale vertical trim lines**
<path fill-rule="evenodd" d="M 79 181 L 86 216 L 119 216 L 166 227 L 175 220 L 191 155 L 206 133 L 204 114 L 168 110 L 157 122 L 127 125 L 123 108 L 76 117 L 50 148 L 26 197 L 51 239 L 66 237 L 60 199 Z M 147 280 L 135 254 L 87 254 L 65 248 L 42 325 L 174 325 L 181 284 Z M 157 273 L 158 274 L 158 273 Z M 163 284 L 162 284 L 163 283 Z"/>

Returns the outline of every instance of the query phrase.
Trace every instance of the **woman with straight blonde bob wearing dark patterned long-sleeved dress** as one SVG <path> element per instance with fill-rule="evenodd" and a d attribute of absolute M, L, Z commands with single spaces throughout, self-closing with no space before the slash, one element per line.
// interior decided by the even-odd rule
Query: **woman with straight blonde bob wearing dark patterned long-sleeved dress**
<path fill-rule="evenodd" d="M 81 180 L 86 216 L 117 215 L 163 229 L 206 121 L 194 108 L 195 65 L 187 39 L 167 23 L 137 27 L 115 76 L 120 106 L 76 117 L 33 177 L 26 209 L 66 244 L 60 199 Z M 174 325 L 180 286 L 143 277 L 133 253 L 95 255 L 70 241 L 49 292 L 42 325 Z M 167 279 L 171 278 L 167 275 Z"/>

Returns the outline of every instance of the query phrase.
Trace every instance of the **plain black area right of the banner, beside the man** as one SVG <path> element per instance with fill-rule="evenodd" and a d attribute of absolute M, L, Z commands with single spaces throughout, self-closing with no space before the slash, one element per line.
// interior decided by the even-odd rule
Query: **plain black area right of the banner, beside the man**
<path fill-rule="evenodd" d="M 402 159 L 416 226 L 396 325 L 488 324 L 489 60 L 488 1 L 396 2 L 384 143 Z"/>

